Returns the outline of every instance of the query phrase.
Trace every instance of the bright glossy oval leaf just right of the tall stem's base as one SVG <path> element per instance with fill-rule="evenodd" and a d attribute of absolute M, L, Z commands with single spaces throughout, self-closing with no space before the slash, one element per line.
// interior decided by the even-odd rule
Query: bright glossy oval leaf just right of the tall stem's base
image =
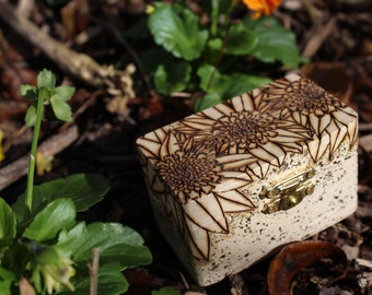
<path fill-rule="evenodd" d="M 70 228 L 75 223 L 77 210 L 71 199 L 54 200 L 43 209 L 23 233 L 23 237 L 36 241 L 48 240 L 62 228 Z"/>

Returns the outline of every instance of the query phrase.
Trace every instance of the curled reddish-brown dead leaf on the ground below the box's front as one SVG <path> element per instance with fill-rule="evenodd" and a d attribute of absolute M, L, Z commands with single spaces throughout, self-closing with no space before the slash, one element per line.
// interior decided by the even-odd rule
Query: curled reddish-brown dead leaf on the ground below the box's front
<path fill-rule="evenodd" d="M 330 258 L 335 263 L 340 263 L 344 269 L 346 268 L 346 255 L 334 244 L 306 240 L 286 246 L 270 263 L 267 276 L 269 293 L 271 295 L 290 294 L 293 278 L 322 258 Z"/>

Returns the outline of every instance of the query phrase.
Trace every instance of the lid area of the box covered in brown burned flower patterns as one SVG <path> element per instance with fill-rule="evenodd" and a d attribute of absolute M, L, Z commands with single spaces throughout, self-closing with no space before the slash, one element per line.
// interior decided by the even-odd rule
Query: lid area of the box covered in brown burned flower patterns
<path fill-rule="evenodd" d="M 353 146 L 357 125 L 351 108 L 311 80 L 289 74 L 144 134 L 137 145 L 150 188 L 179 204 L 168 210 L 185 217 L 193 238 L 228 233 L 228 213 L 254 211 L 239 188 L 265 178 L 290 153 L 306 149 L 316 163 L 342 142 Z M 200 250 L 207 241 L 194 244 Z"/>

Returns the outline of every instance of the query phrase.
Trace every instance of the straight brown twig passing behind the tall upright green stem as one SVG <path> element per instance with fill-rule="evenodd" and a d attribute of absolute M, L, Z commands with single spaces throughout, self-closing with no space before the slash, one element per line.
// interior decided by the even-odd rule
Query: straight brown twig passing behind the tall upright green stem
<path fill-rule="evenodd" d="M 43 142 L 38 148 L 38 152 L 45 157 L 56 155 L 75 141 L 78 135 L 78 127 L 72 126 L 70 129 Z M 0 169 L 0 190 L 26 175 L 28 155 L 24 155 Z"/>

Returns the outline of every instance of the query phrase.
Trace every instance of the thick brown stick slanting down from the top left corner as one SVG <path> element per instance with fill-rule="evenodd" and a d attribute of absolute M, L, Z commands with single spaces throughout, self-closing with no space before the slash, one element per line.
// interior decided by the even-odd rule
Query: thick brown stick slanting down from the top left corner
<path fill-rule="evenodd" d="M 124 95 L 133 97 L 130 73 L 113 67 L 103 67 L 91 57 L 75 52 L 62 43 L 51 38 L 34 23 L 22 17 L 7 2 L 0 1 L 0 19 L 25 40 L 39 48 L 63 71 L 94 86 L 115 86 Z"/>

